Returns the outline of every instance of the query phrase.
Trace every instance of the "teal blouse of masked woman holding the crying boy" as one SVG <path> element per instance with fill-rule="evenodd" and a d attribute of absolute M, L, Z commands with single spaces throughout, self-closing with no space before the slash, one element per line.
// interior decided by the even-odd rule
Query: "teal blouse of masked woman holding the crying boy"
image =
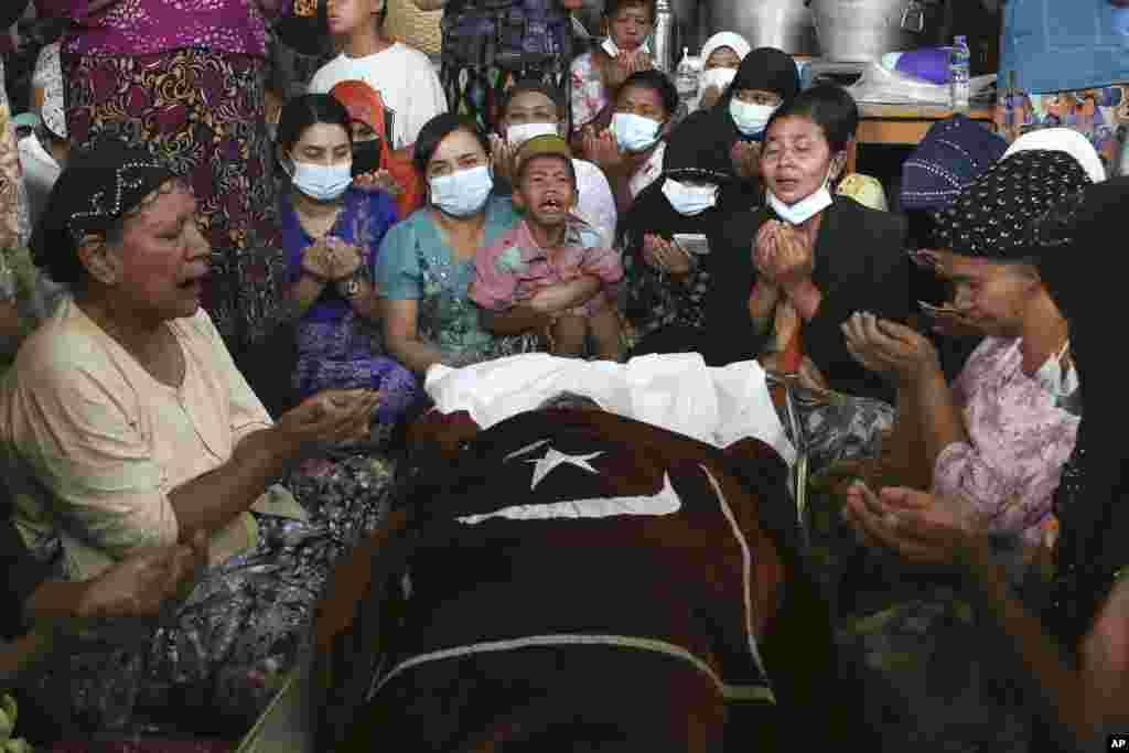
<path fill-rule="evenodd" d="M 490 196 L 485 213 L 483 246 L 520 221 L 509 199 L 502 196 Z M 493 336 L 479 323 L 479 307 L 467 295 L 474 260 L 453 260 L 430 210 L 420 209 L 388 230 L 377 255 L 375 279 L 382 298 L 419 301 L 417 326 L 422 340 L 456 354 L 485 352 L 493 344 Z"/>

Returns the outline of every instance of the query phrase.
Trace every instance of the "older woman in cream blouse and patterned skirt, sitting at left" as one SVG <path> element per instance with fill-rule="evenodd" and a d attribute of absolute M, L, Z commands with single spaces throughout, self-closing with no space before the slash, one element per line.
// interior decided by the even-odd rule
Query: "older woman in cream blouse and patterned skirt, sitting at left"
<path fill-rule="evenodd" d="M 68 666 L 38 691 L 97 727 L 91 699 L 142 677 L 158 719 L 190 692 L 207 699 L 194 724 L 245 728 L 269 700 L 263 668 L 294 663 L 333 561 L 361 528 L 361 504 L 299 505 L 273 482 L 365 436 L 377 397 L 323 392 L 271 421 L 200 307 L 210 249 L 195 199 L 146 150 L 104 141 L 80 152 L 49 204 L 34 254 L 73 297 L 24 343 L 0 393 L 17 527 L 65 580 L 198 532 L 211 567 L 151 641 L 126 658 L 100 646 L 56 657 Z"/>

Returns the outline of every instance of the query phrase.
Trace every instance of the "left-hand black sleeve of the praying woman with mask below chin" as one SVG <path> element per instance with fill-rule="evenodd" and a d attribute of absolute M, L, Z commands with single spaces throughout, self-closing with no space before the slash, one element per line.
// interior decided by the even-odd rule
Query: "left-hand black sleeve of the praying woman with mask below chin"
<path fill-rule="evenodd" d="M 710 283 L 702 357 L 710 366 L 754 359 L 768 341 L 749 315 L 749 294 L 756 282 L 753 240 L 763 222 L 762 211 L 742 212 L 707 234 L 710 253 L 704 269 Z"/>

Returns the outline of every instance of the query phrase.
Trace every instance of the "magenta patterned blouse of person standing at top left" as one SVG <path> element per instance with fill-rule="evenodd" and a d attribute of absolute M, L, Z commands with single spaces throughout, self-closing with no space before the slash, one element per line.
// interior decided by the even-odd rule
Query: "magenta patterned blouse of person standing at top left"
<path fill-rule="evenodd" d="M 58 3 L 55 3 L 58 5 Z M 65 51 L 79 55 L 150 55 L 184 47 L 266 56 L 264 15 L 290 3 L 275 0 L 119 0 L 89 12 L 71 0 L 78 30 Z"/>

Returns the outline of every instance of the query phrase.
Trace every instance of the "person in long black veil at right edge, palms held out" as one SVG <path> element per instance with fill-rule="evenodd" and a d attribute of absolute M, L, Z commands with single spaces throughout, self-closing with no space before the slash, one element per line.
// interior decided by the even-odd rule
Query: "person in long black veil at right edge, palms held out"
<path fill-rule="evenodd" d="M 1016 599 L 994 557 L 1000 548 L 960 500 L 907 488 L 858 484 L 848 516 L 868 542 L 908 561 L 961 576 L 977 619 L 977 641 L 1026 699 L 1032 751 L 1103 750 L 1108 735 L 1129 727 L 1129 581 L 1123 545 L 1129 456 L 1119 440 L 1126 421 L 1120 354 L 1110 348 L 1110 301 L 1117 275 L 1079 263 L 1122 225 L 1129 182 L 1114 178 L 1069 195 L 1038 221 L 1030 251 L 1054 303 L 1069 322 L 1070 348 L 1087 409 L 1054 496 L 1059 534 L 1049 597 Z M 1095 410 L 1096 408 L 1096 410 Z M 965 664 L 969 658 L 963 655 Z M 981 676 L 986 676 L 981 673 Z M 968 733 L 965 719 L 939 734 Z M 977 750 L 1001 750 L 998 720 L 978 728 Z M 945 750 L 960 750 L 948 746 Z M 969 747 L 972 750 L 972 747 Z"/>

